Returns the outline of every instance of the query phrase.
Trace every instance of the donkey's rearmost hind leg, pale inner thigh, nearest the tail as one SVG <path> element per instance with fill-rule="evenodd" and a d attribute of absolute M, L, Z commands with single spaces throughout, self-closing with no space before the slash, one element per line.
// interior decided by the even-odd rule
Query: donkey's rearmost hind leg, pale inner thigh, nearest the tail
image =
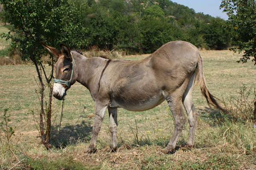
<path fill-rule="evenodd" d="M 189 84 L 187 85 L 186 91 L 182 97 L 182 102 L 189 120 L 189 137 L 187 141 L 187 146 L 189 147 L 189 149 L 191 149 L 194 145 L 195 128 L 198 120 L 198 114 L 195 111 L 195 107 L 192 102 L 192 91 L 193 91 L 194 83 L 195 83 L 195 73 L 192 75 L 189 81 Z"/>

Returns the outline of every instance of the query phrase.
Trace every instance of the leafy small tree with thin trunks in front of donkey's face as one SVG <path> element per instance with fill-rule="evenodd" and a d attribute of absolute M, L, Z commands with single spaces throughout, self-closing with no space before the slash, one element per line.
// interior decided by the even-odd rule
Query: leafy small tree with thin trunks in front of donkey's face
<path fill-rule="evenodd" d="M 54 59 L 47 62 L 50 71 L 45 68 L 42 57 L 45 52 L 40 44 L 44 41 L 51 46 L 60 43 L 64 32 L 64 16 L 67 10 L 67 0 L 0 0 L 3 5 L 4 20 L 10 23 L 8 34 L 1 34 L 6 40 L 12 39 L 12 48 L 21 53 L 23 60 L 30 60 L 35 65 L 40 88 L 41 110 L 38 122 L 42 143 L 50 147 L 51 107 Z M 47 72 L 50 72 L 47 74 Z M 48 102 L 44 99 L 44 91 L 49 88 Z M 46 104 L 47 103 L 47 104 Z M 44 117 L 46 117 L 44 123 Z M 46 124 L 46 130 L 44 125 Z"/>

